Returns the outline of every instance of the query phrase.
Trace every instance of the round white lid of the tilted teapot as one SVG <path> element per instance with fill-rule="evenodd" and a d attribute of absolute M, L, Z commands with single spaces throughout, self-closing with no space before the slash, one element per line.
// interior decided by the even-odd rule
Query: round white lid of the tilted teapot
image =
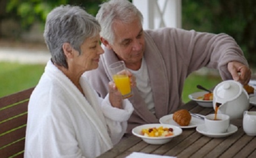
<path fill-rule="evenodd" d="M 242 93 L 242 84 L 234 80 L 226 80 L 219 83 L 213 91 L 213 95 L 223 101 L 236 99 Z"/>

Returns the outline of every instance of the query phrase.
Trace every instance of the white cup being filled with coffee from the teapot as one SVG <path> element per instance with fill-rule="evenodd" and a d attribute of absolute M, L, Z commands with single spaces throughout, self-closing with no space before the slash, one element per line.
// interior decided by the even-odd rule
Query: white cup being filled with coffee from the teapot
<path fill-rule="evenodd" d="M 228 130 L 230 118 L 226 114 L 217 114 L 215 120 L 215 114 L 206 115 L 204 118 L 204 124 L 206 130 L 209 133 L 220 134 L 225 133 Z"/>

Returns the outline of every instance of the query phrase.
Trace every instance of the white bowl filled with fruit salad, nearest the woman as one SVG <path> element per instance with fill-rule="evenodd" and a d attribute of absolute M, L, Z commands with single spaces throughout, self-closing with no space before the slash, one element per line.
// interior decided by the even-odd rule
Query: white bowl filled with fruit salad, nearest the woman
<path fill-rule="evenodd" d="M 148 144 L 160 145 L 170 142 L 173 137 L 182 134 L 182 129 L 178 126 L 152 123 L 135 127 L 132 129 L 132 134 Z"/>

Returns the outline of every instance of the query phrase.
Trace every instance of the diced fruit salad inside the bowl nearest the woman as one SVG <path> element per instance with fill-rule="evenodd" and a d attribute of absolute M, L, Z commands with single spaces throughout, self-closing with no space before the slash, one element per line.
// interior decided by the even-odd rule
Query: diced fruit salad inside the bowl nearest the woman
<path fill-rule="evenodd" d="M 160 126 L 158 128 L 153 127 L 148 129 L 142 129 L 141 134 L 147 137 L 168 137 L 173 135 L 173 129 L 164 128 L 163 126 Z"/>

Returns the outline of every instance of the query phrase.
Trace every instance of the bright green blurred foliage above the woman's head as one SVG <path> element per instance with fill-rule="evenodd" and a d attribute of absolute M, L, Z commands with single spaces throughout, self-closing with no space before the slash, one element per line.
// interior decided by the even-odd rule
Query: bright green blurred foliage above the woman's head
<path fill-rule="evenodd" d="M 6 12 L 16 15 L 22 28 L 29 29 L 35 21 L 44 24 L 47 14 L 56 6 L 79 5 L 95 16 L 102 2 L 103 0 L 9 0 Z"/>

